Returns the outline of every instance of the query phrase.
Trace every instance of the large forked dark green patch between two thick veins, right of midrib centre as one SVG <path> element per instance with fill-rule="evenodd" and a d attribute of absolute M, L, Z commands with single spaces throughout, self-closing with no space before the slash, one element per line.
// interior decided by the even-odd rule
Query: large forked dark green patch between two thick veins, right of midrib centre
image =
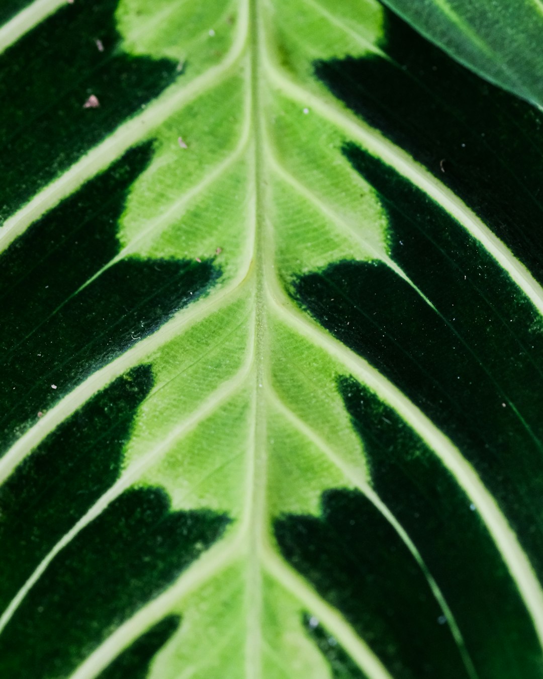
<path fill-rule="evenodd" d="M 485 249 L 391 168 L 345 153 L 386 208 L 393 259 L 303 276 L 301 303 L 460 447 L 543 576 L 543 335 Z"/>

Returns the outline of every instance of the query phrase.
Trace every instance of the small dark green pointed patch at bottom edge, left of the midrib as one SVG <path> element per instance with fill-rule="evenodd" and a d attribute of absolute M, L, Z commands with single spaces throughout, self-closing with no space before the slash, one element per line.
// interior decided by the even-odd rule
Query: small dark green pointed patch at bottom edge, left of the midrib
<path fill-rule="evenodd" d="M 101 672 L 98 679 L 145 679 L 151 661 L 174 634 L 179 622 L 179 616 L 169 615 L 151 627 Z"/>

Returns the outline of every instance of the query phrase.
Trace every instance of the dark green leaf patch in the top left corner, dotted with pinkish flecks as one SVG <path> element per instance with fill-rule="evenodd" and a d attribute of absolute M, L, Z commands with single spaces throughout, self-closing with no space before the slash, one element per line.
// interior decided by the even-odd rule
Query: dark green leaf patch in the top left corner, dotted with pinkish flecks
<path fill-rule="evenodd" d="M 121 51 L 118 2 L 67 4 L 0 55 L 0 221 L 174 81 L 175 62 Z"/>

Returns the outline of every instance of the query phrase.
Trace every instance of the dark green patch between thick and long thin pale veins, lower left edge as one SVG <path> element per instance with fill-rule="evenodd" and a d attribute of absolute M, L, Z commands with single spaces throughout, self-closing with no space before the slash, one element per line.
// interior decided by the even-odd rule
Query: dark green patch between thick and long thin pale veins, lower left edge
<path fill-rule="evenodd" d="M 62 422 L 0 487 L 0 610 L 41 559 L 115 483 L 153 376 L 140 366 Z"/>

